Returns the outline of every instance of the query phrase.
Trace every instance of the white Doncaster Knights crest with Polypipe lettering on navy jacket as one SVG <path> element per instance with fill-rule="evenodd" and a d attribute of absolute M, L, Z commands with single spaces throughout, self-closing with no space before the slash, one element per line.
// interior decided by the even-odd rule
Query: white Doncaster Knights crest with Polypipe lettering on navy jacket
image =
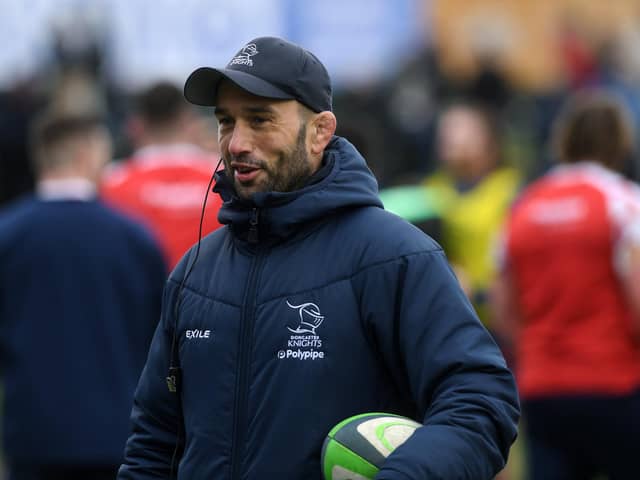
<path fill-rule="evenodd" d="M 324 315 L 318 305 L 312 302 L 294 305 L 287 300 L 287 306 L 297 313 L 294 326 L 287 326 L 292 333 L 287 341 L 287 348 L 278 351 L 279 359 L 318 360 L 324 358 L 322 339 L 316 329 L 322 325 Z"/>

